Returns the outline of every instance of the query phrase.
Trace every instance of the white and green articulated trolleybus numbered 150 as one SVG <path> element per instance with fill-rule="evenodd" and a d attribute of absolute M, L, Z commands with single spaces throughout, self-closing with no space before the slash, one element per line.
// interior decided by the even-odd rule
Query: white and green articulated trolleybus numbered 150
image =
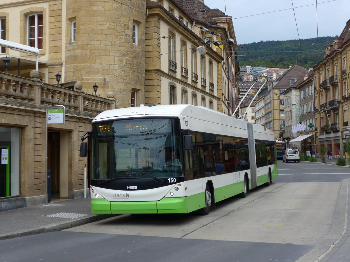
<path fill-rule="evenodd" d="M 208 214 L 278 176 L 274 133 L 193 105 L 107 110 L 92 121 L 93 214 Z M 80 146 L 86 156 L 87 143 Z"/>

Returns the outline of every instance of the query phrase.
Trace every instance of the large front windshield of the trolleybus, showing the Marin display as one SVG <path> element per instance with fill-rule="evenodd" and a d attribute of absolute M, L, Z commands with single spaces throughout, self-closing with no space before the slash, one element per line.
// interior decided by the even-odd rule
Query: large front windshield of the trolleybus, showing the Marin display
<path fill-rule="evenodd" d="M 177 118 L 93 124 L 93 179 L 182 176 Z"/>

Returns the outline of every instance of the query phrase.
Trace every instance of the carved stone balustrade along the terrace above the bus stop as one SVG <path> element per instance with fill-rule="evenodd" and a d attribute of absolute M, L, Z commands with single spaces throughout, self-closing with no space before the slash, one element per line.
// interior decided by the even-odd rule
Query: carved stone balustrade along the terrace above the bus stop
<path fill-rule="evenodd" d="M 33 79 L 2 74 L 0 100 L 8 105 L 25 108 L 46 109 L 47 105 L 64 105 L 75 112 L 100 113 L 115 108 L 114 99 L 86 94 Z"/>

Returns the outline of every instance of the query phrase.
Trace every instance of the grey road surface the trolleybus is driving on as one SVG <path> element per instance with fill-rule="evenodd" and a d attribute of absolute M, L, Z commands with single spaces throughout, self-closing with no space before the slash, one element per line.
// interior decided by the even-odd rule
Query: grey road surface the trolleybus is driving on
<path fill-rule="evenodd" d="M 207 216 L 125 214 L 8 239 L 0 261 L 349 261 L 349 170 L 279 161 L 270 187 L 219 202 Z"/>

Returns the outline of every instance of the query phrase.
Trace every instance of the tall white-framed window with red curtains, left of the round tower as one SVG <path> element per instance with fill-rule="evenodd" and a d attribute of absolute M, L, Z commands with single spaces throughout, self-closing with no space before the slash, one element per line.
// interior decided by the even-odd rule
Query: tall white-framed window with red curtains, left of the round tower
<path fill-rule="evenodd" d="M 34 14 L 27 17 L 27 45 L 43 49 L 43 15 Z"/>

